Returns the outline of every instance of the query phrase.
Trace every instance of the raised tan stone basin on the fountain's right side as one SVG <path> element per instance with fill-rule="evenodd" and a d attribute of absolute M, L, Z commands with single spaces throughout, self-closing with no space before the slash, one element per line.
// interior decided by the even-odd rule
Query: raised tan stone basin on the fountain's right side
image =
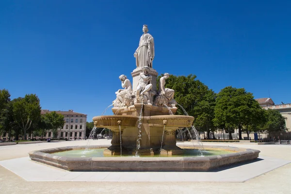
<path fill-rule="evenodd" d="M 155 115 L 147 117 L 147 122 L 155 127 L 163 127 L 163 121 L 166 121 L 166 127 L 178 129 L 191 127 L 194 117 L 185 115 Z"/>

